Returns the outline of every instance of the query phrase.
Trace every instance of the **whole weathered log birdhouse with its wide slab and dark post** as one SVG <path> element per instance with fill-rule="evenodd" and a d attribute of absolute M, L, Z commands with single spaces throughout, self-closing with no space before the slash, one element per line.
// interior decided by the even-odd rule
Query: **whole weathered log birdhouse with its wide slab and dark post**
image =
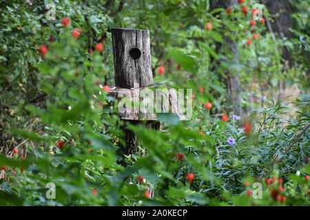
<path fill-rule="evenodd" d="M 115 87 L 110 89 L 110 95 L 118 100 L 125 96 L 130 99 L 130 103 L 132 100 L 140 103 L 140 94 L 145 91 L 144 89 L 156 87 L 152 74 L 149 30 L 112 28 L 112 43 Z M 156 113 L 152 111 L 152 107 L 156 107 L 158 111 L 163 112 L 172 109 L 172 112 L 179 115 L 181 120 L 185 119 L 180 107 L 178 107 L 174 89 L 167 89 L 166 93 L 161 91 L 156 91 L 156 93 L 163 96 L 164 104 L 160 104 L 160 107 L 159 104 L 154 105 L 154 97 L 153 99 L 148 97 L 146 99 L 147 103 L 144 104 L 151 107 L 151 111 L 134 107 L 118 114 L 119 118 L 125 122 L 125 125 L 121 127 L 125 133 L 125 146 L 121 144 L 124 155 L 135 153 L 137 146 L 137 135 L 127 129 L 127 122 L 138 124 L 141 120 L 146 120 L 147 129 L 159 130 L 160 122 L 156 121 Z M 120 107 L 120 103 L 118 105 Z M 125 166 L 125 159 L 121 164 Z"/>

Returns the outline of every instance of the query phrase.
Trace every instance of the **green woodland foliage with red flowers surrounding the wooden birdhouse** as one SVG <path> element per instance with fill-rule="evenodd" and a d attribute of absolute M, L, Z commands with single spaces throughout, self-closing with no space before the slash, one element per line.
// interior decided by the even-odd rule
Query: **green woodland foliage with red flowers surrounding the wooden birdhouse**
<path fill-rule="evenodd" d="M 250 27 L 254 3 L 264 5 L 264 22 Z M 0 1 L 0 205 L 309 206 L 309 8 Z M 123 122 L 102 89 L 114 85 L 111 28 L 148 29 L 154 81 L 194 94 L 192 120 L 162 115 L 160 131 L 128 125 L 140 142 L 127 166 L 119 163 Z M 48 182 L 56 199 L 45 196 Z M 251 197 L 254 182 L 262 199 Z"/>

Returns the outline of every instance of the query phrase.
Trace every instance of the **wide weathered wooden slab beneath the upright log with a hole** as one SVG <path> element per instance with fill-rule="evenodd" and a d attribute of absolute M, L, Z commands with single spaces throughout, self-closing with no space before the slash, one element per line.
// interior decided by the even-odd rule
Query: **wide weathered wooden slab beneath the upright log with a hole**
<path fill-rule="evenodd" d="M 175 113 L 180 120 L 186 120 L 178 104 L 174 88 L 163 88 L 156 85 L 143 89 L 112 87 L 110 95 L 116 98 L 121 105 L 124 104 L 125 111 L 118 111 L 119 118 L 123 120 L 156 120 L 156 113 L 168 112 Z M 122 99 L 126 100 L 121 102 Z"/>

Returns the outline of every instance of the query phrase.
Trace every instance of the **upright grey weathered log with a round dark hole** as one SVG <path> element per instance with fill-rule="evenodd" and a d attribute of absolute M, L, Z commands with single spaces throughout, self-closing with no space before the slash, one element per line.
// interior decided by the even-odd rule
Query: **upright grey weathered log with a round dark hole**
<path fill-rule="evenodd" d="M 114 78 L 123 89 L 153 84 L 149 30 L 112 28 Z"/>

